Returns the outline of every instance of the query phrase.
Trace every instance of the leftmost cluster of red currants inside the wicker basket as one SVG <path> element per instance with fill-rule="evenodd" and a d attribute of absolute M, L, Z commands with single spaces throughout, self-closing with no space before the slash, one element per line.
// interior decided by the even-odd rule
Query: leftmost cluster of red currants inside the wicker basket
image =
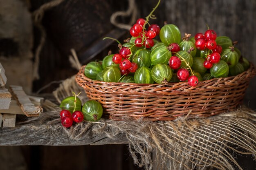
<path fill-rule="evenodd" d="M 128 74 L 128 73 L 135 73 L 138 68 L 136 63 L 130 62 L 128 58 L 131 55 L 131 51 L 128 47 L 122 47 L 118 54 L 113 55 L 112 61 L 115 64 L 119 64 L 121 69 L 121 75 Z M 124 59 L 124 60 L 123 60 Z"/>

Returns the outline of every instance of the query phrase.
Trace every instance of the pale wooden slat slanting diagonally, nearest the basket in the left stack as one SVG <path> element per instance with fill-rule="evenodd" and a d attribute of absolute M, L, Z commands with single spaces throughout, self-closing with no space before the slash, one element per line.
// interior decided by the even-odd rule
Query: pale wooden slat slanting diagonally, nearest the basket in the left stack
<path fill-rule="evenodd" d="M 35 106 L 31 102 L 21 86 L 10 86 L 10 92 L 27 117 L 39 116 L 39 114 L 43 112 L 41 106 Z"/>

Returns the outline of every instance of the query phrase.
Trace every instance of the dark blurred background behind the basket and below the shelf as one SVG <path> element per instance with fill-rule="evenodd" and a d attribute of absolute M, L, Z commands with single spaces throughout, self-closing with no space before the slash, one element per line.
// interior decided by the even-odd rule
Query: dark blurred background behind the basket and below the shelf
<path fill-rule="evenodd" d="M 53 2 L 47 4 L 47 2 Z M 55 4 L 54 4 L 55 3 Z M 22 85 L 27 93 L 64 80 L 77 73 L 69 61 L 74 49 L 81 64 L 102 60 L 129 31 L 110 22 L 131 23 L 145 18 L 157 0 L 0 0 L 0 62 L 8 84 Z M 182 35 L 207 29 L 237 40 L 237 48 L 256 64 L 256 0 L 161 0 L 150 23 L 175 24 Z M 134 21 L 134 22 L 135 22 Z M 38 49 L 39 47 L 39 49 Z M 38 69 L 36 69 L 38 68 Z M 256 109 L 256 79 L 251 81 L 244 104 Z M 58 83 L 40 93 L 52 93 Z M 1 129 L 0 129 L 1 130 Z M 238 155 L 247 170 L 256 168 L 250 155 Z M 106 146 L 7 146 L 0 147 L 0 170 L 137 170 L 126 145 Z"/>

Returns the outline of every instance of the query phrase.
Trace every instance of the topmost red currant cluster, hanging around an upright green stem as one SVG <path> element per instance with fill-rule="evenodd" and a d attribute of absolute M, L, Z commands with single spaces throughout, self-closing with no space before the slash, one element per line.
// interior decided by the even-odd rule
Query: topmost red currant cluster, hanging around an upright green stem
<path fill-rule="evenodd" d="M 135 45 L 137 47 L 145 46 L 147 49 L 154 46 L 153 38 L 160 33 L 160 27 L 157 24 L 151 24 L 148 30 L 145 30 L 145 22 L 143 18 L 139 18 L 130 29 L 130 35 L 132 37 L 138 37 L 135 39 Z"/>

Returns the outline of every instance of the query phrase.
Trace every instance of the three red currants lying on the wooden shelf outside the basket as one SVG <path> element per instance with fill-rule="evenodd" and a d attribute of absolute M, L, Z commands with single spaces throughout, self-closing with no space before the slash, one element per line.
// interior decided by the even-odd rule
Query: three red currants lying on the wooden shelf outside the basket
<path fill-rule="evenodd" d="M 61 124 L 65 128 L 69 128 L 72 126 L 73 121 L 76 123 L 80 123 L 83 121 L 83 113 L 81 111 L 75 111 L 71 115 L 69 110 L 61 110 L 60 118 L 61 118 Z"/>

